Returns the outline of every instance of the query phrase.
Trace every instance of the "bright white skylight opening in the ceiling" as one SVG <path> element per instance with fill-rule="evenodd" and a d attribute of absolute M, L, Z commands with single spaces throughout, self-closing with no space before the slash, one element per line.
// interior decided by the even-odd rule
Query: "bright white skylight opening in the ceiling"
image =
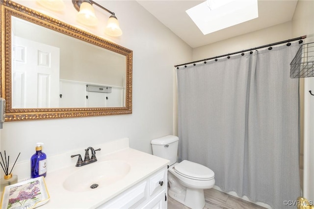
<path fill-rule="evenodd" d="M 206 0 L 185 12 L 204 35 L 259 17 L 257 0 Z"/>

